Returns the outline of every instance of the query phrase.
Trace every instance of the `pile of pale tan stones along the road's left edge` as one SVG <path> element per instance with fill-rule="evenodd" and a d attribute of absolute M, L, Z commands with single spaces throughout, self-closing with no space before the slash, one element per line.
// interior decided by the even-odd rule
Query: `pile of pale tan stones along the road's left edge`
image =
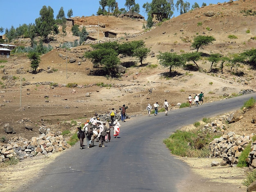
<path fill-rule="evenodd" d="M 10 161 L 11 158 L 23 160 L 33 156 L 61 152 L 70 148 L 63 135 L 41 134 L 27 140 L 21 137 L 14 137 L 7 144 L 0 143 L 0 163 Z"/>

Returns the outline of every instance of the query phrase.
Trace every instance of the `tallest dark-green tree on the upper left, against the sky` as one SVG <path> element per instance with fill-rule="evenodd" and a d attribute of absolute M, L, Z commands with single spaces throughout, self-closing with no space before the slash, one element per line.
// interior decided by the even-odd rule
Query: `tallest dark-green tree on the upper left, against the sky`
<path fill-rule="evenodd" d="M 49 6 L 44 5 L 40 10 L 40 17 L 36 18 L 36 33 L 43 38 L 44 41 L 48 40 L 48 35 L 52 32 L 54 21 L 54 11 Z"/>

